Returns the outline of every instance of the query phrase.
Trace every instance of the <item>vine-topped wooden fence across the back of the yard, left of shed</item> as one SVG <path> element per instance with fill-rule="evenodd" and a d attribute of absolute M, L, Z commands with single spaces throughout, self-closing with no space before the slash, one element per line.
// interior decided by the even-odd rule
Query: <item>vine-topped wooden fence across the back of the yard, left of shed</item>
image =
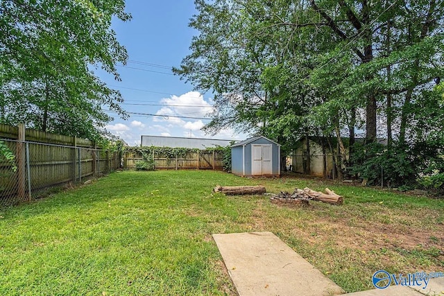
<path fill-rule="evenodd" d="M 185 155 L 174 155 L 173 157 L 165 153 L 153 150 L 153 159 L 156 169 L 200 169 L 200 170 L 222 170 L 223 152 L 220 150 L 198 150 L 188 151 Z M 123 167 L 135 168 L 137 161 L 142 161 L 142 153 L 130 151 L 123 155 Z"/>

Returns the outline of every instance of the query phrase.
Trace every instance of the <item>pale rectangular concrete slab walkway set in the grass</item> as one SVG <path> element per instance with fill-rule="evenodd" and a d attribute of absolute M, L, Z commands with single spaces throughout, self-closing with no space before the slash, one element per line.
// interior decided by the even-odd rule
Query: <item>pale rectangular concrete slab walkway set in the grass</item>
<path fill-rule="evenodd" d="M 213 234 L 213 238 L 240 296 L 344 293 L 271 232 Z"/>

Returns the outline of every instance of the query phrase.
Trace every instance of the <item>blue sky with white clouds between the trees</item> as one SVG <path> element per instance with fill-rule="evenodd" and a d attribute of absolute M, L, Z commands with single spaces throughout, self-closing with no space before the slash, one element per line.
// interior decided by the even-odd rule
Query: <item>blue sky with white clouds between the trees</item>
<path fill-rule="evenodd" d="M 106 129 L 132 146 L 140 144 L 142 134 L 244 139 L 243 134 L 234 134 L 232 130 L 222 130 L 214 136 L 205 134 L 200 128 L 210 120 L 185 118 L 204 118 L 212 110 L 212 94 L 193 92 L 192 85 L 171 75 L 171 67 L 178 67 L 190 53 L 191 38 L 197 34 L 188 26 L 189 19 L 196 14 L 194 1 L 128 0 L 126 11 L 133 19 L 114 21 L 112 25 L 129 55 L 126 67 L 118 67 L 122 81 L 103 71 L 97 73 L 121 92 L 125 99 L 122 106 L 127 112 L 163 116 L 130 114 L 126 121 L 114 116 Z"/>

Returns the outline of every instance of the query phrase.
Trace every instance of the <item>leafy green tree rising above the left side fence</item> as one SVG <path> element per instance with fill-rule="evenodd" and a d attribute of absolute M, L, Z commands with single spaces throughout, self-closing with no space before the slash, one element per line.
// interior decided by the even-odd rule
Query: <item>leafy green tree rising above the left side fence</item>
<path fill-rule="evenodd" d="M 126 49 L 110 28 L 128 21 L 123 0 L 0 2 L 0 121 L 99 139 L 111 118 L 124 116 L 121 94 L 94 75 L 119 79 Z"/>

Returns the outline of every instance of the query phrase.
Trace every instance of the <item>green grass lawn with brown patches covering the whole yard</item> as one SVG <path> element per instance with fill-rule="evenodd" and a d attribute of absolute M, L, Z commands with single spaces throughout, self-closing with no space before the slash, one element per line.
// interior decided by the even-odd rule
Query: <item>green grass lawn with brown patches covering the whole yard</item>
<path fill-rule="evenodd" d="M 263 184 L 345 197 L 279 207 L 216 185 Z M 444 199 L 215 171 L 123 171 L 0 209 L 0 295 L 232 295 L 214 233 L 270 231 L 347 292 L 373 272 L 444 271 Z"/>

